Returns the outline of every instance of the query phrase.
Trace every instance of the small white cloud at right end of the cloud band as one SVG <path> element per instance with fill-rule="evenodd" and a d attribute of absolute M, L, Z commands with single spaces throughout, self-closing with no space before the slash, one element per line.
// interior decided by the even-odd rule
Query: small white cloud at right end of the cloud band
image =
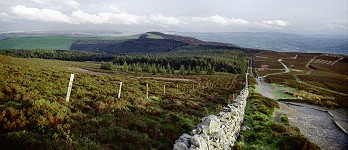
<path fill-rule="evenodd" d="M 249 21 L 244 19 L 235 19 L 235 18 L 226 18 L 219 15 L 210 16 L 210 17 L 192 17 L 192 21 L 196 22 L 210 22 L 220 25 L 243 25 L 249 24 Z"/>

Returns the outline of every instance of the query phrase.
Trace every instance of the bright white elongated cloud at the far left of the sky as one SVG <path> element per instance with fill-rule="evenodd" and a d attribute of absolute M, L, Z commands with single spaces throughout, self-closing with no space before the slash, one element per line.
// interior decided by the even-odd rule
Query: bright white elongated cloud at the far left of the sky
<path fill-rule="evenodd" d="M 12 9 L 12 13 L 24 19 L 42 21 L 42 22 L 73 23 L 68 16 L 55 10 L 29 8 L 22 5 L 11 7 L 11 9 Z"/>

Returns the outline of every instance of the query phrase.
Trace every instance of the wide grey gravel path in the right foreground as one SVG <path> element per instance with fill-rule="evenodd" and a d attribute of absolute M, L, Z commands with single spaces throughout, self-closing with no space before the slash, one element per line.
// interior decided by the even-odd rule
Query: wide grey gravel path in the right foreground
<path fill-rule="evenodd" d="M 319 110 L 323 108 L 311 109 L 309 107 L 317 106 L 306 104 L 301 104 L 304 107 L 284 103 L 279 103 L 279 105 L 280 109 L 276 111 L 276 114 L 286 114 L 290 124 L 299 127 L 301 133 L 320 148 L 348 149 L 348 135 L 337 128 L 328 113 Z M 334 110 L 330 111 L 337 113 Z"/>

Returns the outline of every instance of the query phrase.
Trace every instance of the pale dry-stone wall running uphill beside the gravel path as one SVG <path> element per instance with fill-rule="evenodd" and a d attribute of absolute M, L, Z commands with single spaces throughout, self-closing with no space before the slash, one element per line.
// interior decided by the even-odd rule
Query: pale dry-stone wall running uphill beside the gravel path
<path fill-rule="evenodd" d="M 189 134 L 184 133 L 175 141 L 174 150 L 221 150 L 232 149 L 244 119 L 246 99 L 249 95 L 248 80 L 233 103 L 224 107 L 217 115 L 201 119 L 201 123 Z"/>

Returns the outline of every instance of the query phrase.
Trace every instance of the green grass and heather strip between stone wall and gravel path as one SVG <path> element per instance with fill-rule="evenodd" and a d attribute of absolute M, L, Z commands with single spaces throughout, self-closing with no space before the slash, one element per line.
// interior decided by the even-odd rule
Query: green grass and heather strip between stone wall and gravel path
<path fill-rule="evenodd" d="M 290 126 L 286 116 L 274 120 L 274 110 L 279 108 L 276 101 L 255 93 L 256 85 L 250 85 L 241 137 L 233 149 L 320 149 Z M 249 129 L 250 128 L 250 129 Z"/>

